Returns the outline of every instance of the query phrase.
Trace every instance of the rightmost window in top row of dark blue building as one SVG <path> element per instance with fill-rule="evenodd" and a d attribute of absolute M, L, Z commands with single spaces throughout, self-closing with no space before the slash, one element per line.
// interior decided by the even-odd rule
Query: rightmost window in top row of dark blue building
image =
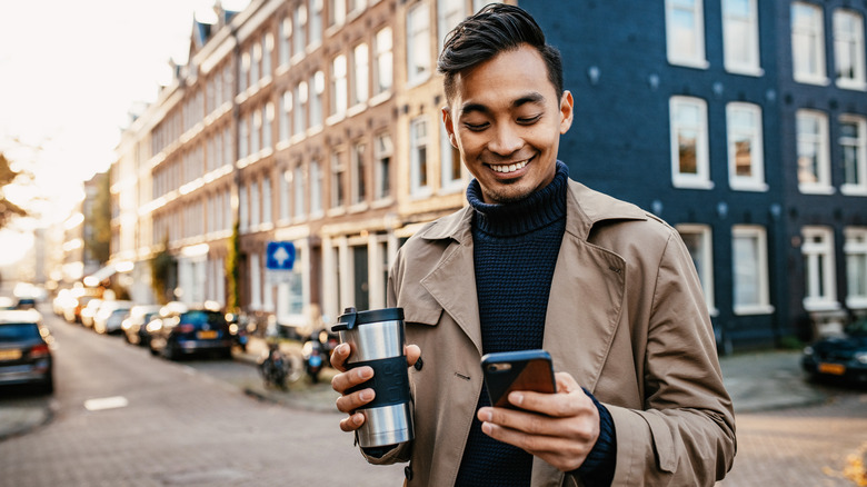
<path fill-rule="evenodd" d="M 837 86 L 867 89 L 864 73 L 864 18 L 851 10 L 834 11 L 834 64 Z"/>

